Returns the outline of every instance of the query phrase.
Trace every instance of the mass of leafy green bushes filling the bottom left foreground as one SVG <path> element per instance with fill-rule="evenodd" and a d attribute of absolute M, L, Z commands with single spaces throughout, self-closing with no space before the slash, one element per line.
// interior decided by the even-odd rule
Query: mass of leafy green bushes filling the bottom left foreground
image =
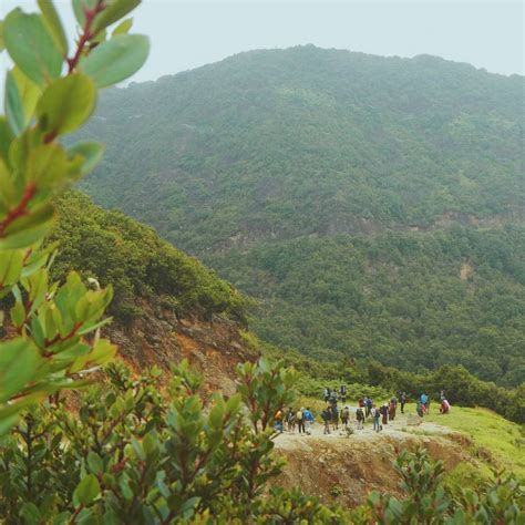
<path fill-rule="evenodd" d="M 281 467 L 272 422 L 291 371 L 240 366 L 229 399 L 205 398 L 186 362 L 173 373 L 169 403 L 155 370 L 133 378 L 115 364 L 78 413 L 62 402 L 29 412 L 0 449 L 6 523 L 20 509 L 25 523 L 341 523 L 298 491 L 266 488 Z"/>

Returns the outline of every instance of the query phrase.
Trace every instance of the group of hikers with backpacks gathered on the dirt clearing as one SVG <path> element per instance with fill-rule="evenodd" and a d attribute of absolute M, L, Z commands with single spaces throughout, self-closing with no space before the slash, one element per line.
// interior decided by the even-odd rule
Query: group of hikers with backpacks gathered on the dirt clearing
<path fill-rule="evenodd" d="M 325 425 L 325 434 L 341 430 L 349 431 L 349 423 L 351 413 L 353 410 L 346 404 L 347 402 L 347 388 L 341 385 L 339 389 L 326 388 L 323 391 L 323 399 L 326 402 L 325 409 L 321 411 L 321 420 Z M 442 390 L 440 393 L 440 413 L 446 414 L 450 412 L 451 406 L 446 400 L 445 393 Z M 339 409 L 338 402 L 341 401 L 342 406 Z M 364 421 L 368 418 L 372 419 L 373 430 L 380 432 L 383 430 L 383 425 L 389 424 L 395 420 L 398 412 L 398 405 L 401 409 L 401 413 L 404 414 L 404 406 L 406 404 L 408 397 L 405 392 L 399 395 L 399 400 L 395 395 L 390 398 L 388 402 L 382 404 L 375 404 L 370 397 L 361 397 L 358 400 L 358 408 L 354 411 L 356 430 L 362 430 Z M 416 401 L 416 413 L 421 418 L 430 411 L 430 398 L 426 393 L 422 393 Z M 311 429 L 316 421 L 312 411 L 309 408 L 301 408 L 295 410 L 292 406 L 285 411 L 278 411 L 275 416 L 276 423 L 275 429 L 278 432 L 287 430 L 294 433 L 297 429 L 299 434 L 311 434 Z"/>

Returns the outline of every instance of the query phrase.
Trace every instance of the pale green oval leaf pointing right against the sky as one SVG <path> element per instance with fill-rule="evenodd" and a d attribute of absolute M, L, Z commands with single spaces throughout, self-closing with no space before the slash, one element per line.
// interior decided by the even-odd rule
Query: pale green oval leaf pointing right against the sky
<path fill-rule="evenodd" d="M 97 45 L 79 68 L 97 87 L 116 84 L 138 71 L 147 59 L 150 41 L 142 34 L 120 34 Z"/>

